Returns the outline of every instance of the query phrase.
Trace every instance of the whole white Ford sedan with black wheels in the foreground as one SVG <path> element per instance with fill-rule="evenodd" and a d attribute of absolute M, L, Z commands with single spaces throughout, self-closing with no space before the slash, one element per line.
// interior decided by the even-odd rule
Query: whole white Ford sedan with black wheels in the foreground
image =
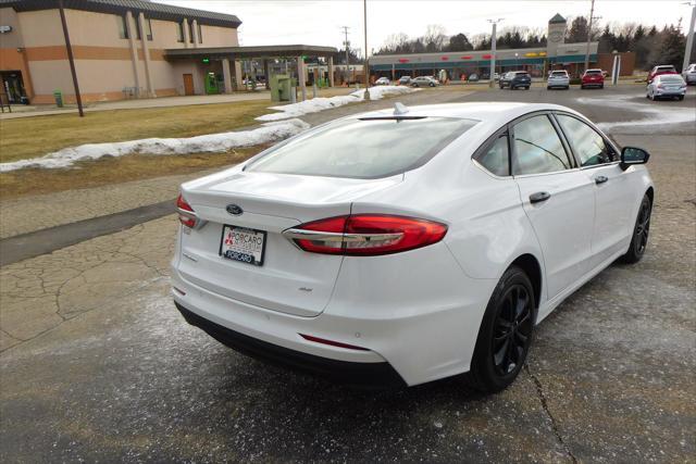
<path fill-rule="evenodd" d="M 186 183 L 184 317 L 349 385 L 519 374 L 534 326 L 648 239 L 648 153 L 564 106 L 383 110 Z M 568 327 L 568 330 L 574 330 Z"/>

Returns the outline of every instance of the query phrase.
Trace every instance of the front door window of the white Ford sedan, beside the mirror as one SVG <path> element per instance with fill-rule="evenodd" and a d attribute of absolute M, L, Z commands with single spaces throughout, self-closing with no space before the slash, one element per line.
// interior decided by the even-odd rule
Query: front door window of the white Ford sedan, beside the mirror
<path fill-rule="evenodd" d="M 572 116 L 558 114 L 556 117 L 580 159 L 581 166 L 594 166 L 614 161 L 613 150 L 595 129 Z"/>

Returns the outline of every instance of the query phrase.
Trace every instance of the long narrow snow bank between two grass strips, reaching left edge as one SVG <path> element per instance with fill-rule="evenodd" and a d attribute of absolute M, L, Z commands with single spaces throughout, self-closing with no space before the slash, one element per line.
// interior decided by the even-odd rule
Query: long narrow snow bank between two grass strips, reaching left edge
<path fill-rule="evenodd" d="M 262 127 L 236 133 L 210 134 L 189 138 L 149 138 L 114 143 L 86 143 L 64 148 L 45 156 L 0 163 L 0 173 L 25 167 L 69 167 L 77 161 L 98 160 L 103 156 L 126 154 L 190 154 L 217 153 L 233 148 L 251 147 L 259 143 L 282 140 L 310 127 L 300 120 L 268 123 Z"/>

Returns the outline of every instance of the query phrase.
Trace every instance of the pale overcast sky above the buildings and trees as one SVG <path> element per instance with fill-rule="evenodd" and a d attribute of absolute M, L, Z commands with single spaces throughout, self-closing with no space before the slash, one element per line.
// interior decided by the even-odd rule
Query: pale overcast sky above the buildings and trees
<path fill-rule="evenodd" d="M 244 46 L 306 43 L 343 47 L 340 26 L 348 26 L 351 48 L 363 48 L 362 0 L 154 0 L 181 7 L 236 14 L 243 22 Z M 448 35 L 489 33 L 487 18 L 502 17 L 499 27 L 546 29 L 556 13 L 564 17 L 589 14 L 589 0 L 568 1 L 436 1 L 368 0 L 368 48 L 378 49 L 389 34 L 423 35 L 428 24 L 445 26 Z M 607 22 L 646 25 L 676 23 L 684 28 L 691 8 L 684 0 L 596 0 L 595 15 Z"/>

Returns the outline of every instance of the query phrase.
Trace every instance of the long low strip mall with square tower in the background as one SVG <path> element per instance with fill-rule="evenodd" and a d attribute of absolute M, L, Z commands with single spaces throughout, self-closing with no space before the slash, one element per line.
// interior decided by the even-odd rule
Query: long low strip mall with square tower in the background
<path fill-rule="evenodd" d="M 587 43 L 566 43 L 566 20 L 557 14 L 548 23 L 547 46 L 543 48 L 504 49 L 496 51 L 496 73 L 525 70 L 535 77 L 546 75 L 548 70 L 568 70 L 577 75 L 584 68 Z M 611 53 L 597 53 L 598 42 L 589 43 L 589 67 L 611 70 Z M 633 53 L 621 53 L 621 75 L 633 73 Z M 370 71 L 373 75 L 398 79 L 401 76 L 438 76 L 445 71 L 449 79 L 459 80 L 462 76 L 477 74 L 487 78 L 490 73 L 493 52 L 490 50 L 389 54 L 370 58 Z"/>

